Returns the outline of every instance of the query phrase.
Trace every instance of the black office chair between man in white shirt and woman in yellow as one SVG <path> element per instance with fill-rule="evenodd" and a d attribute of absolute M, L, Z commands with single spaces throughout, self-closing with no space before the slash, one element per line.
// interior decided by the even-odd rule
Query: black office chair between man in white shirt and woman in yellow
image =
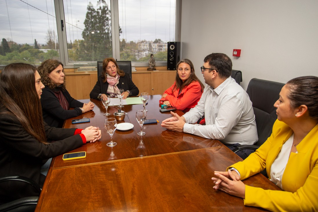
<path fill-rule="evenodd" d="M 284 83 L 264 79 L 251 79 L 247 86 L 255 114 L 258 141 L 254 145 L 239 145 L 233 152 L 242 149 L 258 149 L 272 134 L 273 124 L 277 119 L 274 103 L 279 99 L 279 93 Z"/>

